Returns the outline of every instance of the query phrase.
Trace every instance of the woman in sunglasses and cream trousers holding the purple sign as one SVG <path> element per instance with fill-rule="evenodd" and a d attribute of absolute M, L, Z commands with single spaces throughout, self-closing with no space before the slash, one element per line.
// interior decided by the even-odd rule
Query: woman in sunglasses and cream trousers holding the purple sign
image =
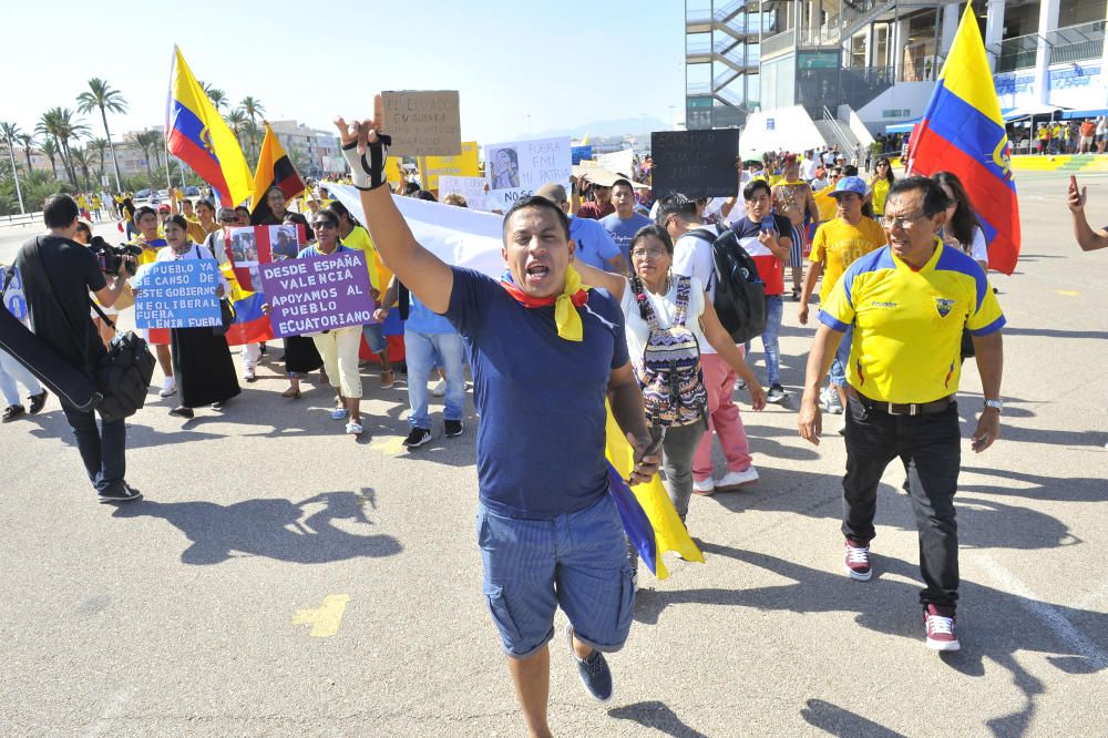
<path fill-rule="evenodd" d="M 353 253 L 339 240 L 339 219 L 327 208 L 312 218 L 316 243 L 300 250 L 298 259 Z M 332 328 L 321 334 L 310 334 L 316 350 L 324 358 L 324 367 L 336 389 L 334 420 L 348 418 L 346 432 L 361 435 L 361 375 L 358 372 L 358 349 L 361 347 L 361 326 Z M 335 386 L 335 382 L 338 386 Z"/>

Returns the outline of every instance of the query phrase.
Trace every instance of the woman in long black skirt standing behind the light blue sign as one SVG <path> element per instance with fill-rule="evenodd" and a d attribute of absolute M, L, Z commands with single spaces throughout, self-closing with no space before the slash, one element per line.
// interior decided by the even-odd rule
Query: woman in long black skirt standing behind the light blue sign
<path fill-rule="evenodd" d="M 188 222 L 183 215 L 171 215 L 165 221 L 163 230 L 167 247 L 157 252 L 155 262 L 212 259 L 218 264 L 211 249 L 193 243 L 188 237 Z M 216 271 L 218 273 L 218 267 Z M 219 274 L 215 294 L 223 297 L 227 290 L 227 280 Z M 170 341 L 173 375 L 177 378 L 177 391 L 181 396 L 181 404 L 170 411 L 171 416 L 192 418 L 193 409 L 205 404 L 222 410 L 227 400 L 242 391 L 225 336 L 217 336 L 211 326 L 172 328 Z"/>

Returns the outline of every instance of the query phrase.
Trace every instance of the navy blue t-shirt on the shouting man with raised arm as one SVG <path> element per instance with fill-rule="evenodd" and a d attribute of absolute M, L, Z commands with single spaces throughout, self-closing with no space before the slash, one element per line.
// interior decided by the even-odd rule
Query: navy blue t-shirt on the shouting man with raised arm
<path fill-rule="evenodd" d="M 628 361 L 619 304 L 591 289 L 583 340 L 560 338 L 554 307 L 526 308 L 494 279 L 453 267 L 447 317 L 473 371 L 481 502 L 510 517 L 550 520 L 607 494 L 608 379 Z"/>

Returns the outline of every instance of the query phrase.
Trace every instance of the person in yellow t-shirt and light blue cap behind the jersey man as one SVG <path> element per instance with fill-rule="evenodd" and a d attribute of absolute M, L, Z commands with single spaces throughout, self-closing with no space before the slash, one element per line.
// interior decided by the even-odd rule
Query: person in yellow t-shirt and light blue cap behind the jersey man
<path fill-rule="evenodd" d="M 856 259 L 889 243 L 885 232 L 873 218 L 862 215 L 865 199 L 865 182 L 861 177 L 844 177 L 829 193 L 837 204 L 838 217 L 828 221 L 815 232 L 812 239 L 812 263 L 804 275 L 804 293 L 800 297 L 800 325 L 808 325 L 808 301 L 820 283 L 820 305 L 825 305 L 842 273 Z M 848 328 L 839 345 L 839 351 L 831 362 L 830 386 L 820 393 L 820 407 L 832 414 L 839 414 L 847 407 L 847 361 L 850 358 L 850 342 L 853 329 Z M 845 431 L 845 419 L 839 432 Z"/>

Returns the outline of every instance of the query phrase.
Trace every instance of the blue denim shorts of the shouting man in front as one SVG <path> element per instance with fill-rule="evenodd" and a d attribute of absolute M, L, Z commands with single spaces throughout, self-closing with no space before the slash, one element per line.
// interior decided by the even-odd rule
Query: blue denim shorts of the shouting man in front
<path fill-rule="evenodd" d="M 476 532 L 485 598 L 509 656 L 527 658 L 544 648 L 558 606 L 582 643 L 602 652 L 623 647 L 635 586 L 611 496 L 553 520 L 505 517 L 482 503 Z"/>

